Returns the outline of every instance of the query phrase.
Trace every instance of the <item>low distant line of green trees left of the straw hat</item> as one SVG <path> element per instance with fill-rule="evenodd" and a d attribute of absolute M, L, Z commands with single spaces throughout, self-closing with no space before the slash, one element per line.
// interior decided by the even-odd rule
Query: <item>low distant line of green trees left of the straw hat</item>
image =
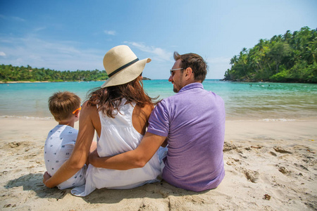
<path fill-rule="evenodd" d="M 0 81 L 30 81 L 30 82 L 74 82 L 74 81 L 99 81 L 108 78 L 105 70 L 77 70 L 58 71 L 44 68 L 14 67 L 0 65 Z"/>

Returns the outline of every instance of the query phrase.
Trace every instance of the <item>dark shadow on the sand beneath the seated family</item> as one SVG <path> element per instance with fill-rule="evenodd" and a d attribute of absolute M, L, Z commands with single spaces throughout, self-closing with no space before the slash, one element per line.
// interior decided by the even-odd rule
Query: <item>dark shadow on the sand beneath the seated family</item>
<path fill-rule="evenodd" d="M 23 191 L 35 191 L 39 198 L 56 198 L 59 200 L 70 193 L 71 188 L 59 190 L 58 188 L 47 188 L 42 183 L 43 174 L 27 174 L 17 179 L 8 181 L 6 189 L 22 186 Z M 130 198 L 168 198 L 168 196 L 194 196 L 204 194 L 186 191 L 181 188 L 171 186 L 166 181 L 146 184 L 128 190 L 113 190 L 107 188 L 96 189 L 88 196 L 83 197 L 87 203 L 119 203 L 123 199 Z M 73 196 L 77 197 L 77 196 Z"/>

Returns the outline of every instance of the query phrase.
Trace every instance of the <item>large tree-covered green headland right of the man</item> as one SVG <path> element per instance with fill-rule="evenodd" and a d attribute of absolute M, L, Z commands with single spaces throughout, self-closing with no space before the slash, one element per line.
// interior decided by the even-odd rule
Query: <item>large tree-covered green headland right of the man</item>
<path fill-rule="evenodd" d="M 309 27 L 260 39 L 230 60 L 225 80 L 317 83 L 317 32 Z"/>

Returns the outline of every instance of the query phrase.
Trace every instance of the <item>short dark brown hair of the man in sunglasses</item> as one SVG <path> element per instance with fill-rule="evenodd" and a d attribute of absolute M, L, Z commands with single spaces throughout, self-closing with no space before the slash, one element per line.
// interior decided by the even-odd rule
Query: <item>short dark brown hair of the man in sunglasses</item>
<path fill-rule="evenodd" d="M 204 58 L 196 53 L 185 53 L 180 55 L 177 51 L 175 51 L 174 59 L 182 60 L 180 63 L 180 68 L 192 68 L 195 81 L 204 82 L 208 71 L 208 66 Z"/>

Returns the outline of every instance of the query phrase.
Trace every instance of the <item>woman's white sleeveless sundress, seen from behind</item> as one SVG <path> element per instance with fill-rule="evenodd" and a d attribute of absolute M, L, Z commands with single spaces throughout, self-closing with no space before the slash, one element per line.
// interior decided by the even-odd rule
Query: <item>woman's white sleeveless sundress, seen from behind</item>
<path fill-rule="evenodd" d="M 111 118 L 99 112 L 101 121 L 101 136 L 97 143 L 97 152 L 100 157 L 118 155 L 126 151 L 132 151 L 142 140 L 132 125 L 132 113 L 135 103 L 126 103 L 123 99 L 119 106 L 119 113 L 113 111 Z M 131 170 L 108 170 L 89 165 L 86 172 L 86 184 L 73 188 L 71 193 L 75 196 L 87 196 L 95 188 L 128 189 L 142 186 L 143 184 L 159 181 L 161 174 L 158 153 L 142 168 Z"/>

